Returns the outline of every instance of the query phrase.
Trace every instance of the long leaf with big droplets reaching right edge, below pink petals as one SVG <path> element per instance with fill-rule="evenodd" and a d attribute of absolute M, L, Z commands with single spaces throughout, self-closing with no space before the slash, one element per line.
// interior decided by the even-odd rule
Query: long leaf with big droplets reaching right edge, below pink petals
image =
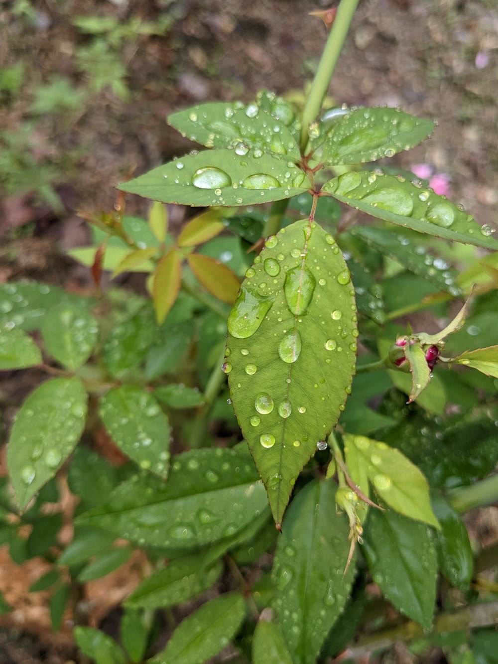
<path fill-rule="evenodd" d="M 446 240 L 497 249 L 487 228 L 479 226 L 470 214 L 401 176 L 352 171 L 325 183 L 321 190 L 338 201 L 420 233 Z"/>

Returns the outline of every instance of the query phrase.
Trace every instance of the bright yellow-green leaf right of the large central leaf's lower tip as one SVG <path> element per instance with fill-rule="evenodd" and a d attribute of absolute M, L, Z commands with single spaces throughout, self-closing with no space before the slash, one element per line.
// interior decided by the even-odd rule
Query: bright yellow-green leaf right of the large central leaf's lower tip
<path fill-rule="evenodd" d="M 363 467 L 382 500 L 400 514 L 439 528 L 430 505 L 429 486 L 420 470 L 399 450 L 365 436 L 343 436 L 346 463 Z M 363 487 L 361 487 L 363 489 Z"/>

